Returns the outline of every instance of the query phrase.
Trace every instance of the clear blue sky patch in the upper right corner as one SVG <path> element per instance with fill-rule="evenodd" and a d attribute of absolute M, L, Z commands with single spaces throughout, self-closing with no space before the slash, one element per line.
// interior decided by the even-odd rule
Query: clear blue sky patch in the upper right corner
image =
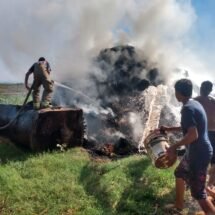
<path fill-rule="evenodd" d="M 215 0 L 192 0 L 197 14 L 193 37 L 203 52 L 215 49 Z"/>

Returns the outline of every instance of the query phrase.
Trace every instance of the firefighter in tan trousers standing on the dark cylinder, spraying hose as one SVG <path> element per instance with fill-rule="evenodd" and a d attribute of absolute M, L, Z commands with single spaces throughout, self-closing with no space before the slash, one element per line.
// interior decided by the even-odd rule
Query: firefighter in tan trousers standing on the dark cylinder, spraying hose
<path fill-rule="evenodd" d="M 54 81 L 50 77 L 51 68 L 44 57 L 40 57 L 38 62 L 34 63 L 25 75 L 25 87 L 28 86 L 28 78 L 33 73 L 33 108 L 35 110 L 51 107 L 51 95 L 53 92 Z M 43 94 L 40 102 L 40 87 L 43 86 Z"/>

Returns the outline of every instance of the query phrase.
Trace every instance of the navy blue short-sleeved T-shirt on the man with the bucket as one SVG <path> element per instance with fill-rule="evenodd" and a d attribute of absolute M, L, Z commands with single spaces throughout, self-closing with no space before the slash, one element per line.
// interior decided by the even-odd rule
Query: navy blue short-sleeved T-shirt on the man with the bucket
<path fill-rule="evenodd" d="M 208 138 L 207 116 L 199 102 L 190 99 L 184 104 L 181 110 L 181 127 L 184 135 L 189 128 L 197 128 L 198 138 L 187 145 L 187 155 L 191 168 L 204 168 L 212 157 L 213 148 Z"/>

